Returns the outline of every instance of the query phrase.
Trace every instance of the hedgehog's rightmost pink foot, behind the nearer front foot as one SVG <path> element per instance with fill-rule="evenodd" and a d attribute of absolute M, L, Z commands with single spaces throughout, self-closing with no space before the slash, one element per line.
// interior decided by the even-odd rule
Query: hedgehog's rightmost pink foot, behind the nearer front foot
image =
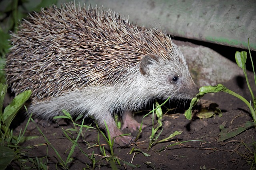
<path fill-rule="evenodd" d="M 130 111 L 124 111 L 124 113 L 122 114 L 122 121 L 123 121 L 123 126 L 122 126 L 122 130 L 125 129 L 126 127 L 131 131 L 131 132 L 135 132 L 137 131 L 137 129 L 140 129 L 140 125 L 141 123 L 138 123 L 132 113 Z M 142 129 L 146 127 L 146 125 L 142 125 Z"/>

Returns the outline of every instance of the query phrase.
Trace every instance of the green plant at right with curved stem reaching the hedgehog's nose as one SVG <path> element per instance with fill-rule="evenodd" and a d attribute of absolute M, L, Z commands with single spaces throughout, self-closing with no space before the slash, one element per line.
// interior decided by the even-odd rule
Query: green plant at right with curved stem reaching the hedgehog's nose
<path fill-rule="evenodd" d="M 255 83 L 255 86 L 256 86 L 256 76 L 255 76 L 254 64 L 253 64 L 253 61 L 252 61 L 252 55 L 250 53 L 249 39 L 248 39 L 248 50 L 249 50 L 250 59 L 251 59 L 251 62 L 252 62 L 252 68 L 253 68 L 253 73 L 254 73 L 254 83 Z M 252 100 L 250 102 L 247 101 L 244 97 L 242 97 L 239 94 L 233 92 L 232 90 L 229 90 L 228 88 L 226 88 L 222 84 L 218 84 L 216 86 L 202 86 L 202 87 L 200 87 L 199 93 L 196 95 L 196 97 L 194 97 L 192 99 L 189 109 L 185 112 L 186 118 L 191 119 L 192 118 L 192 107 L 194 107 L 196 105 L 196 103 L 198 102 L 198 100 L 200 100 L 200 98 L 202 98 L 204 96 L 204 94 L 207 94 L 207 93 L 226 92 L 226 93 L 231 94 L 231 95 L 239 98 L 240 100 L 242 100 L 249 107 L 254 122 L 250 122 L 250 121 L 246 122 L 245 127 L 239 127 L 235 131 L 232 131 L 232 132 L 229 132 L 229 133 L 226 133 L 227 131 L 226 131 L 226 129 L 224 129 L 223 125 L 220 126 L 220 129 L 222 130 L 222 133 L 220 134 L 220 139 L 218 140 L 219 142 L 224 141 L 226 139 L 229 139 L 231 137 L 234 137 L 234 136 L 238 135 L 239 133 L 242 133 L 246 129 L 252 127 L 252 126 L 256 126 L 256 98 L 255 98 L 255 95 L 252 92 L 250 83 L 248 81 L 248 76 L 247 76 L 247 73 L 246 73 L 246 65 L 245 65 L 246 59 L 247 59 L 247 52 L 246 51 L 242 51 L 242 52 L 237 51 L 236 55 L 235 55 L 235 58 L 236 58 L 236 63 L 238 64 L 238 66 L 240 68 L 242 68 L 243 71 L 244 71 L 247 86 L 248 86 L 248 89 L 250 90 Z"/>

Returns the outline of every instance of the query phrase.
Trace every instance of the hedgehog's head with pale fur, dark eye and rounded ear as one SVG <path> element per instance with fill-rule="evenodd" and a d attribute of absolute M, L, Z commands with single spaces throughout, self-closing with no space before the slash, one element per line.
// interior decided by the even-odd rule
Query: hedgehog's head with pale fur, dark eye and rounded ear
<path fill-rule="evenodd" d="M 185 58 L 171 56 L 163 59 L 155 55 L 147 55 L 140 61 L 140 72 L 146 77 L 149 88 L 154 96 L 158 98 L 191 99 L 198 93 L 198 88 L 194 84 Z"/>

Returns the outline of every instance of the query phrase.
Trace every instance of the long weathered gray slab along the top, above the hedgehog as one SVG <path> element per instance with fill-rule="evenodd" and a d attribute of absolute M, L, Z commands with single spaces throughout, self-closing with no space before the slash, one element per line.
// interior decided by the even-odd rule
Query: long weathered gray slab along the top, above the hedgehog
<path fill-rule="evenodd" d="M 59 0 L 58 3 L 68 0 Z M 70 0 L 73 1 L 73 0 Z M 167 33 L 256 50 L 255 0 L 76 0 L 98 5 L 129 16 L 130 21 L 147 28 L 159 27 Z"/>

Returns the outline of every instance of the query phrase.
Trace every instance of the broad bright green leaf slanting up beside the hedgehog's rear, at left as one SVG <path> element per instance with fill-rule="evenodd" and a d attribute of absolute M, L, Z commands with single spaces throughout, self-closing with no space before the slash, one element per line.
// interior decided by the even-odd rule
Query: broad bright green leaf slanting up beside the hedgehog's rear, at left
<path fill-rule="evenodd" d="M 31 90 L 26 90 L 16 96 L 12 103 L 4 109 L 4 124 L 9 127 L 12 120 L 18 113 L 19 109 L 24 106 L 24 103 L 30 98 Z"/>

